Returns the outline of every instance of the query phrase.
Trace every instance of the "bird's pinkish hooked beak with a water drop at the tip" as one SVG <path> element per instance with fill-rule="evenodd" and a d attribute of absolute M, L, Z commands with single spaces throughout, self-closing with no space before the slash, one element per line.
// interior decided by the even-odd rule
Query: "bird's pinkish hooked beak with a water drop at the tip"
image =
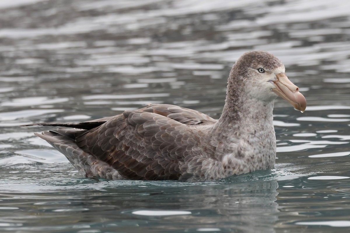
<path fill-rule="evenodd" d="M 299 87 L 289 81 L 286 74 L 276 74 L 276 78 L 276 80 L 271 80 L 275 85 L 272 91 L 292 104 L 295 109 L 304 112 L 306 109 L 306 99 L 299 92 Z"/>

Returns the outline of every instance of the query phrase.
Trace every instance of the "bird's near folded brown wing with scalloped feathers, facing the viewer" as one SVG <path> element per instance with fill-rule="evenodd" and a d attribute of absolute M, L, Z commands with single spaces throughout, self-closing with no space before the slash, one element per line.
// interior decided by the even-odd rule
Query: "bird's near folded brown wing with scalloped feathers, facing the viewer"
<path fill-rule="evenodd" d="M 179 163 L 196 144 L 190 128 L 168 117 L 137 110 L 125 111 L 75 136 L 82 150 L 127 179 L 178 180 Z"/>

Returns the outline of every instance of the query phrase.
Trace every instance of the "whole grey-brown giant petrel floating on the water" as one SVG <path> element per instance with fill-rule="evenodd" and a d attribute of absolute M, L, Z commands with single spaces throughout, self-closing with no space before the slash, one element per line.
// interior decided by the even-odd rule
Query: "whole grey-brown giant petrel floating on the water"
<path fill-rule="evenodd" d="M 86 177 L 110 180 L 213 180 L 271 169 L 277 96 L 304 111 L 306 100 L 270 53 L 244 53 L 233 65 L 218 120 L 191 109 L 150 104 L 36 134 Z"/>

